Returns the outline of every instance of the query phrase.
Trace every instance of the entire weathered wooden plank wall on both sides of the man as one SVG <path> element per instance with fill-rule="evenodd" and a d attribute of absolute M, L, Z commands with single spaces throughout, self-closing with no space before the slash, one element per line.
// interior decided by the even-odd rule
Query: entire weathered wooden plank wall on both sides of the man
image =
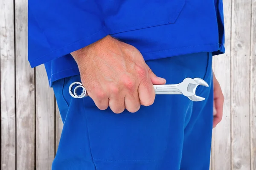
<path fill-rule="evenodd" d="M 211 170 L 256 170 L 256 0 L 224 0 L 226 54 L 213 69 L 225 96 Z M 1 170 L 49 170 L 62 122 L 44 66 L 27 61 L 27 0 L 0 0 Z"/>

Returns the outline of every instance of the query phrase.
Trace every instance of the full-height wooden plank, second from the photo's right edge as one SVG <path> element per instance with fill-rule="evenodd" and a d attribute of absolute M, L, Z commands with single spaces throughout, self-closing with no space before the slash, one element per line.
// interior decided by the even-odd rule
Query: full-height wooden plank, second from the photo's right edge
<path fill-rule="evenodd" d="M 233 0 L 231 41 L 232 169 L 250 170 L 251 0 Z"/>

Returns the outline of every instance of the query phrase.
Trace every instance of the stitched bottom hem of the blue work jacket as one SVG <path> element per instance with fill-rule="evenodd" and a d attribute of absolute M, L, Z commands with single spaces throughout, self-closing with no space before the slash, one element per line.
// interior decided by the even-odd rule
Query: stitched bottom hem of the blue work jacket
<path fill-rule="evenodd" d="M 186 49 L 186 51 L 184 51 L 184 49 Z M 207 44 L 207 45 L 192 45 L 192 46 L 186 46 L 186 47 L 180 47 L 180 48 L 166 49 L 162 51 L 141 52 L 141 54 L 143 55 L 143 57 L 145 57 L 145 61 L 147 61 L 147 60 L 160 59 L 160 58 L 166 58 L 166 57 L 180 56 L 185 54 L 200 53 L 200 52 L 212 52 L 212 55 L 219 55 L 219 54 L 224 54 L 225 48 L 224 48 L 224 44 L 216 43 L 216 44 Z M 80 73 L 79 73 L 78 67 L 62 70 L 58 73 L 51 75 L 51 78 L 49 79 L 49 85 L 50 87 L 52 87 L 52 82 L 58 79 L 75 76 L 79 74 Z"/>

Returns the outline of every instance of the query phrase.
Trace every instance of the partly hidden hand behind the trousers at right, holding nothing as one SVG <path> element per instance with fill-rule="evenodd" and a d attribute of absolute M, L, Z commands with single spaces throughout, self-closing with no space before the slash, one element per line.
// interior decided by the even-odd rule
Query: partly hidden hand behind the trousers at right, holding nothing
<path fill-rule="evenodd" d="M 213 73 L 213 128 L 221 122 L 223 115 L 224 96 L 221 86 Z"/>

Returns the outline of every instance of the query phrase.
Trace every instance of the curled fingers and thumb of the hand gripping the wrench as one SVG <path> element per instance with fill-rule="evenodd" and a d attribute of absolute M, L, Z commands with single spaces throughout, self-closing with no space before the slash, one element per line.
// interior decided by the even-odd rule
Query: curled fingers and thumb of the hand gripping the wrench
<path fill-rule="evenodd" d="M 155 99 L 153 84 L 165 84 L 166 80 L 157 77 L 148 65 L 144 66 L 137 69 L 137 78 L 123 76 L 118 84 L 108 85 L 103 92 L 94 91 L 89 96 L 100 110 L 109 106 L 114 113 L 122 113 L 125 109 L 135 113 L 140 105 L 152 105 Z"/>

